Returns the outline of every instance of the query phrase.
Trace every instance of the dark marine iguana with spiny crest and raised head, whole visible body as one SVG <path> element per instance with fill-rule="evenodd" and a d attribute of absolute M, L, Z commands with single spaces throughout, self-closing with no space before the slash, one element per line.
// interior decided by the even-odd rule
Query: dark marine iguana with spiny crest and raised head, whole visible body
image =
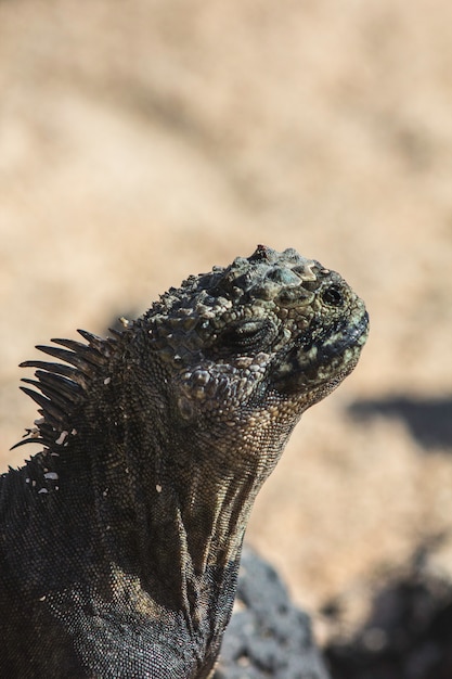
<path fill-rule="evenodd" d="M 208 677 L 254 499 L 367 325 L 338 273 L 260 245 L 37 347 L 61 362 L 22 363 L 42 450 L 0 482 L 0 676 Z"/>

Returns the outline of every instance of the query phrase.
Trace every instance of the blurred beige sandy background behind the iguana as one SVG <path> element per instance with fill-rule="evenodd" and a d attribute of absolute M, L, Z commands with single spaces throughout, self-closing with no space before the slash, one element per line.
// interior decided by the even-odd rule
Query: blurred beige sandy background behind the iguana
<path fill-rule="evenodd" d="M 1 470 L 31 452 L 35 344 L 293 246 L 372 332 L 248 540 L 320 637 L 431 536 L 452 574 L 451 27 L 447 0 L 0 0 Z"/>

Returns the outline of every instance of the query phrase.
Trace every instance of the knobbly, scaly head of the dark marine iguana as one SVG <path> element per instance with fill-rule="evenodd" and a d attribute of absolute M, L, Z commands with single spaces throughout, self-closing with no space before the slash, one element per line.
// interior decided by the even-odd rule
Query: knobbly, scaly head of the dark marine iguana
<path fill-rule="evenodd" d="M 246 422 L 290 428 L 351 372 L 369 330 L 338 273 L 263 245 L 171 289 L 144 322 L 180 418 L 238 437 Z"/>

